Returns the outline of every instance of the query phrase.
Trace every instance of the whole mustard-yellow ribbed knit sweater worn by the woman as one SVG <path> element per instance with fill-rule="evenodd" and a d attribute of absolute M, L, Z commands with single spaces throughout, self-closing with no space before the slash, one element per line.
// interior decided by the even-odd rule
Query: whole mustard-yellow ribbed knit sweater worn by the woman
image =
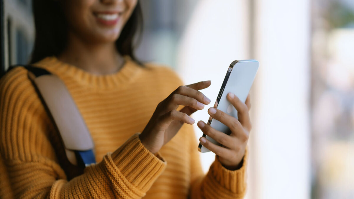
<path fill-rule="evenodd" d="M 244 196 L 246 157 L 236 171 L 216 157 L 203 174 L 191 125 L 155 155 L 143 146 L 138 133 L 156 105 L 183 84 L 169 68 L 125 61 L 110 75 L 93 75 L 56 57 L 35 64 L 63 80 L 90 130 L 97 164 L 83 173 L 65 159 L 27 70 L 15 68 L 0 80 L 0 198 Z"/>

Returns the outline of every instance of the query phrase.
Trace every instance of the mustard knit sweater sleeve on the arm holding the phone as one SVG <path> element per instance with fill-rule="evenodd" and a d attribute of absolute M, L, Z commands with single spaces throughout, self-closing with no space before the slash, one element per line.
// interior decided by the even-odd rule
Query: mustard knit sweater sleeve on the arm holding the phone
<path fill-rule="evenodd" d="M 218 156 L 211 164 L 209 172 L 203 174 L 200 164 L 200 152 L 192 126 L 191 135 L 191 186 L 190 198 L 192 199 L 237 199 L 243 198 L 246 193 L 246 166 L 247 151 L 242 167 L 232 171 L 221 165 Z"/>

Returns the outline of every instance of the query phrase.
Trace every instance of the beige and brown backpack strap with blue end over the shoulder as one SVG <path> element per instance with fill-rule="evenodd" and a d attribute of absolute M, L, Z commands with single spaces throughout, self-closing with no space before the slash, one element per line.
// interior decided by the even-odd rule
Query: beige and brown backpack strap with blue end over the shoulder
<path fill-rule="evenodd" d="M 24 68 L 57 127 L 70 163 L 80 167 L 96 163 L 91 134 L 63 81 L 43 68 Z"/>

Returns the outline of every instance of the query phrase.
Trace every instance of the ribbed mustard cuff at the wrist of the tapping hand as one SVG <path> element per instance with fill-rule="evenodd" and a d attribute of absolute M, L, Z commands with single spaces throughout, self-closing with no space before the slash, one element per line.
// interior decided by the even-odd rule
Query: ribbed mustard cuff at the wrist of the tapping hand
<path fill-rule="evenodd" d="M 133 186 L 147 192 L 165 170 L 166 161 L 159 152 L 154 155 L 145 148 L 139 134 L 134 134 L 115 150 L 112 153 L 112 160 Z"/>

